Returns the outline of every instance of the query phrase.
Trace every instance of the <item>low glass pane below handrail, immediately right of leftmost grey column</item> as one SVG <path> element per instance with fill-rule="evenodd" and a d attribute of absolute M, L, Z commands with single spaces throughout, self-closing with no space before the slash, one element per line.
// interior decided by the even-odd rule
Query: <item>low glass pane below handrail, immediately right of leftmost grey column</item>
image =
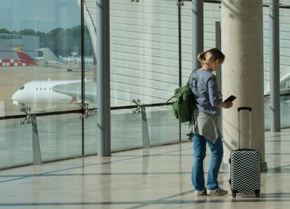
<path fill-rule="evenodd" d="M 141 114 L 133 114 L 135 109 L 111 111 L 111 150 L 141 148 Z"/>

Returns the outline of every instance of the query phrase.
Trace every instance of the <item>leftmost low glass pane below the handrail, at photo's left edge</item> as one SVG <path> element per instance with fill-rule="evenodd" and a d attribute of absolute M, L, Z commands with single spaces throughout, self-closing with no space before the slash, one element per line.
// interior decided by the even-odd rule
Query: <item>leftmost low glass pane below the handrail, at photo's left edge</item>
<path fill-rule="evenodd" d="M 0 120 L 0 168 L 32 163 L 32 125 L 23 119 Z"/>

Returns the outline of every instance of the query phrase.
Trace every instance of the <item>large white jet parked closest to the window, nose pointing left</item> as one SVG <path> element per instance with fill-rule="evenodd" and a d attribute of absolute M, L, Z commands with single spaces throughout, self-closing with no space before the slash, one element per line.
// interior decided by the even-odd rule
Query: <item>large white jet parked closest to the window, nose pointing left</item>
<path fill-rule="evenodd" d="M 85 81 L 85 100 L 95 102 L 96 83 Z M 45 111 L 58 104 L 81 104 L 81 81 L 30 81 L 20 86 L 11 99 L 20 107 L 30 107 L 33 111 Z"/>

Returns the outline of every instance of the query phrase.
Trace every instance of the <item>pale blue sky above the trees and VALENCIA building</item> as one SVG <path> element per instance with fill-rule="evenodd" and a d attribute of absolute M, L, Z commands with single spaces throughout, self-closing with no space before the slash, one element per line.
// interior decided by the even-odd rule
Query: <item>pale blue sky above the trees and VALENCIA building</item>
<path fill-rule="evenodd" d="M 81 25 L 80 0 L 0 0 L 0 29 L 34 29 L 50 32 L 57 27 Z"/>

